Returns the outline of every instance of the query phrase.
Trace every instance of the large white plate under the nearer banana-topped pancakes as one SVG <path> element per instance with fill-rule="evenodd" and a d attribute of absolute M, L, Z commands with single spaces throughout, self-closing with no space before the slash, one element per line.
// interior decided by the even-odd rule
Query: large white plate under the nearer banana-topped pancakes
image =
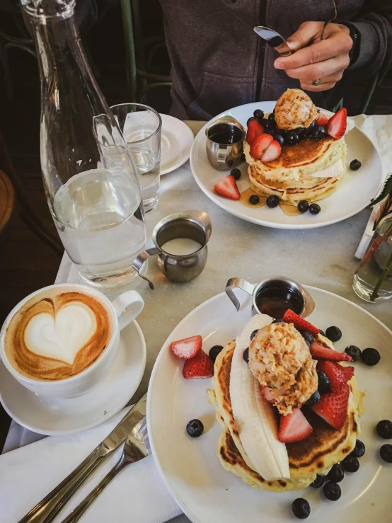
<path fill-rule="evenodd" d="M 374 427 L 392 418 L 392 332 L 352 302 L 316 287 L 307 289 L 316 301 L 310 321 L 324 331 L 331 325 L 342 329 L 338 350 L 353 344 L 381 352 L 376 367 L 354 364 L 359 388 L 367 392 L 360 436 L 367 452 L 359 459 L 360 469 L 346 473 L 337 502 L 323 500 L 321 491 L 313 488 L 279 494 L 253 490 L 223 469 L 217 458 L 221 426 L 206 400 L 211 379 L 184 379 L 183 361 L 170 350 L 171 341 L 196 334 L 202 335 L 206 352 L 236 338 L 250 318 L 250 299 L 237 313 L 226 294 L 218 294 L 174 329 L 158 355 L 149 386 L 147 422 L 154 458 L 166 486 L 193 523 L 292 523 L 292 501 L 301 497 L 309 500 L 312 522 L 391 521 L 392 465 L 379 458 L 379 447 L 387 441 L 375 435 Z M 204 423 L 204 434 L 197 439 L 185 432 L 192 418 Z"/>

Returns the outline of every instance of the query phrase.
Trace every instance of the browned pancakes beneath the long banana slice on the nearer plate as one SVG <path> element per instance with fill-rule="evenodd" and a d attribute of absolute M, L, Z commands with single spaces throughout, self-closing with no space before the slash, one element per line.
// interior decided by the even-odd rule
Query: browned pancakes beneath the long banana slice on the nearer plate
<path fill-rule="evenodd" d="M 350 399 L 347 406 L 347 418 L 341 430 L 330 427 L 311 410 L 304 409 L 304 414 L 313 427 L 310 437 L 296 443 L 286 444 L 289 456 L 290 479 L 265 481 L 249 466 L 241 439 L 238 435 L 230 401 L 230 373 L 236 342 L 231 341 L 220 352 L 214 365 L 214 389 L 207 391 L 211 403 L 223 430 L 218 442 L 218 458 L 226 471 L 239 476 L 245 483 L 260 490 L 282 492 L 297 490 L 308 486 L 317 473 L 328 473 L 334 464 L 342 461 L 355 447 L 359 433 L 358 415 L 362 414 L 362 394 L 353 377 L 350 381 Z M 277 420 L 278 423 L 278 420 Z M 247 464 L 248 462 L 248 464 Z"/>

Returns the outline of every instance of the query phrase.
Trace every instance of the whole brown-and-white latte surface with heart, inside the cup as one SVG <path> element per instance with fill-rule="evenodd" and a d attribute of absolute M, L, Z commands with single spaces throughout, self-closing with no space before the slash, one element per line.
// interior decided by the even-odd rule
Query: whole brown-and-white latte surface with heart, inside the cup
<path fill-rule="evenodd" d="M 79 374 L 108 346 L 113 322 L 103 302 L 79 287 L 47 289 L 11 318 L 4 349 L 26 377 L 57 381 Z"/>

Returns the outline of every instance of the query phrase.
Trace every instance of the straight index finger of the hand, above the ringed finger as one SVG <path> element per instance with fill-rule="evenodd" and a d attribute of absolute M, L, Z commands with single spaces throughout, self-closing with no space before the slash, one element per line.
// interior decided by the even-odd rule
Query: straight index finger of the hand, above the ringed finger
<path fill-rule="evenodd" d="M 277 69 L 297 69 L 309 64 L 317 64 L 338 54 L 348 53 L 352 47 L 352 39 L 343 31 L 333 33 L 327 40 L 316 42 L 309 47 L 300 49 L 289 57 L 280 57 L 275 60 Z"/>

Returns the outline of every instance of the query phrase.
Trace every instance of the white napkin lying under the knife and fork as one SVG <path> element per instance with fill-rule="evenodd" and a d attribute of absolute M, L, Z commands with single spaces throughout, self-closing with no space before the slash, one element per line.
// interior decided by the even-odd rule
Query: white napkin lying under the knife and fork
<path fill-rule="evenodd" d="M 0 456 L 0 520 L 16 523 L 83 461 L 129 410 L 123 409 L 95 429 L 41 439 Z M 96 469 L 64 510 L 59 523 L 105 476 L 122 447 Z M 83 523 L 162 523 L 182 513 L 156 469 L 154 458 L 128 465 L 83 516 Z"/>

